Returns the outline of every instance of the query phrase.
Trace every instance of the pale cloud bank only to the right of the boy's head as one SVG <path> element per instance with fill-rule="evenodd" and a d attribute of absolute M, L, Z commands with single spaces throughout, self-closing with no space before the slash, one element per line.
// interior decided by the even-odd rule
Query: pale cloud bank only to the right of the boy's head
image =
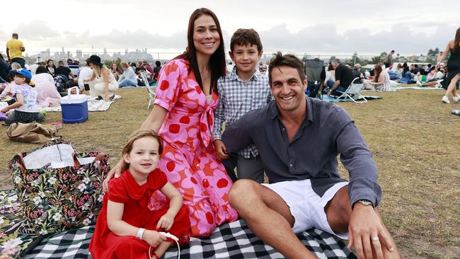
<path fill-rule="evenodd" d="M 333 24 L 311 25 L 290 33 L 281 24 L 270 30 L 260 31 L 265 50 L 291 52 L 389 52 L 426 54 L 430 48 L 444 48 L 454 38 L 456 27 L 438 25 L 430 34 L 414 32 L 409 26 L 395 24 L 387 30 L 372 33 L 367 28 L 345 30 L 339 34 Z"/>

